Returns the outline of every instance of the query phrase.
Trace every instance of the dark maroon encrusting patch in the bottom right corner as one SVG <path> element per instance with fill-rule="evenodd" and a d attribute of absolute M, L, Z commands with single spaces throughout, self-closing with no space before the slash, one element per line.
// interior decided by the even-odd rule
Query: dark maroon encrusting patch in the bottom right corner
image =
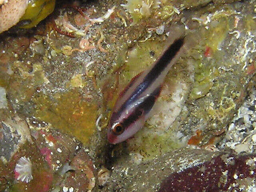
<path fill-rule="evenodd" d="M 220 155 L 210 162 L 168 176 L 158 192 L 217 192 L 237 187 L 237 179 L 256 178 L 256 155 Z M 232 191 L 233 191 L 232 190 Z"/>

